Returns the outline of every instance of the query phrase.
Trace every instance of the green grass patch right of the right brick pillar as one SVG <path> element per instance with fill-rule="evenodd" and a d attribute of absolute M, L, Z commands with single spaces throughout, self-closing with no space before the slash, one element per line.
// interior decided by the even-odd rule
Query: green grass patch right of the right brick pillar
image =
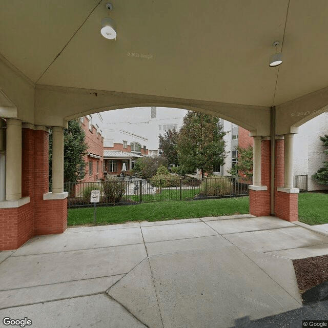
<path fill-rule="evenodd" d="M 298 220 L 311 226 L 328 223 L 328 194 L 300 193 L 298 195 Z"/>

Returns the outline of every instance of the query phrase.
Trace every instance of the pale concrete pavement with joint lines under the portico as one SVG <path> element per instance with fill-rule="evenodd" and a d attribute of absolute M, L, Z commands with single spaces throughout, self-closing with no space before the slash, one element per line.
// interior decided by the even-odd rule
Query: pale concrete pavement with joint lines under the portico
<path fill-rule="evenodd" d="M 0 319 L 27 317 L 32 327 L 231 327 L 245 316 L 300 308 L 291 259 L 323 254 L 328 232 L 274 217 L 70 228 L 0 252 Z"/>

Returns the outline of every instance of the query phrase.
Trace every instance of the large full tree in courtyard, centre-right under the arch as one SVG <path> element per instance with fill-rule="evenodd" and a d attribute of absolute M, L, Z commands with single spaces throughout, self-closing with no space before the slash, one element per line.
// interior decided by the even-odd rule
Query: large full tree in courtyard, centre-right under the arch
<path fill-rule="evenodd" d="M 200 169 L 202 178 L 205 172 L 213 171 L 215 165 L 223 165 L 226 158 L 223 136 L 217 117 L 188 112 L 178 138 L 180 164 L 189 172 Z"/>

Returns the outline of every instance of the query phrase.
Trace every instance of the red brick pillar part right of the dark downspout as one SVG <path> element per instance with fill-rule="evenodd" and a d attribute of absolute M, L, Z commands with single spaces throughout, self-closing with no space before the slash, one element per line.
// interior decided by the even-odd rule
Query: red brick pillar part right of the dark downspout
<path fill-rule="evenodd" d="M 275 147 L 275 216 L 286 221 L 298 220 L 298 193 L 284 188 L 284 140 Z"/>

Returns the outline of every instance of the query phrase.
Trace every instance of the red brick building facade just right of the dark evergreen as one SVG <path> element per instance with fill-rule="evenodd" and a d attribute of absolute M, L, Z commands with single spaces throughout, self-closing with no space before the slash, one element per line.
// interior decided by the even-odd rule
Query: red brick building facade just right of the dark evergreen
<path fill-rule="evenodd" d="M 86 142 L 89 146 L 88 153 L 92 153 L 97 156 L 101 156 L 100 159 L 85 156 L 84 160 L 86 162 L 86 175 L 83 182 L 93 182 L 97 181 L 104 176 L 103 174 L 103 162 L 104 162 L 104 138 L 100 133 L 97 132 L 96 128 L 92 126 L 92 131 L 89 130 L 89 120 L 87 117 L 84 117 L 84 123 L 81 123 L 86 134 Z M 92 174 L 89 174 L 89 162 L 92 161 Z M 99 172 L 97 173 L 97 162 L 99 162 Z"/>

